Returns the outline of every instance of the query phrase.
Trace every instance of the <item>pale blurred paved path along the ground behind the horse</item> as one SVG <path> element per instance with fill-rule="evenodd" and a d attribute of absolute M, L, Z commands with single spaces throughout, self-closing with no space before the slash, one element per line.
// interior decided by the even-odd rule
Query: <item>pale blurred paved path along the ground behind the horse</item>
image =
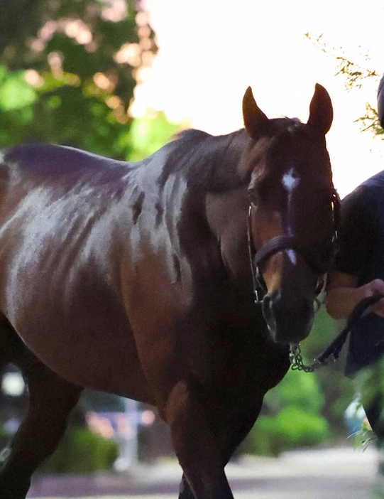
<path fill-rule="evenodd" d="M 246 456 L 226 467 L 236 499 L 373 499 L 374 449 L 295 451 Z M 181 471 L 173 460 L 129 473 L 38 476 L 29 498 L 176 499 Z"/>

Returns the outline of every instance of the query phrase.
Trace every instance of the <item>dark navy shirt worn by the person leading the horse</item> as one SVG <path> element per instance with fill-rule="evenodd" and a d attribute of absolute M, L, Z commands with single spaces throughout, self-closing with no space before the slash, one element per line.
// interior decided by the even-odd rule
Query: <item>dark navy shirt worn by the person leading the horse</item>
<path fill-rule="evenodd" d="M 384 171 L 368 178 L 341 203 L 339 272 L 351 274 L 357 286 L 384 280 Z M 384 318 L 363 317 L 351 332 L 346 375 L 377 362 L 384 355 Z"/>

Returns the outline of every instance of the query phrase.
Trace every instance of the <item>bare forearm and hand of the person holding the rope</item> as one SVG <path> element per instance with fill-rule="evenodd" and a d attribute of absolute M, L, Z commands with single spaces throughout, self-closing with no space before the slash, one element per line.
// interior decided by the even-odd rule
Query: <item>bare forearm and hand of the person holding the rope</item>
<path fill-rule="evenodd" d="M 384 295 L 384 281 L 374 279 L 363 286 L 356 286 L 355 277 L 344 272 L 333 272 L 327 289 L 326 308 L 333 318 L 349 318 L 353 308 L 363 298 L 375 294 Z M 371 310 L 384 317 L 384 299 L 373 305 Z"/>

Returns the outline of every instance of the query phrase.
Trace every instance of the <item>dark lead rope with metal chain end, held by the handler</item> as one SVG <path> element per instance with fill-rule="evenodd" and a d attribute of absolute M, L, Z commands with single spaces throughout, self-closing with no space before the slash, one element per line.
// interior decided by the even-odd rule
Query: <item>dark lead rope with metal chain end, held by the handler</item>
<path fill-rule="evenodd" d="M 292 345 L 290 348 L 291 369 L 294 371 L 314 372 L 321 367 L 325 367 L 331 363 L 336 362 L 336 360 L 339 358 L 341 348 L 343 348 L 349 336 L 349 333 L 351 333 L 353 328 L 356 326 L 356 323 L 358 323 L 358 321 L 360 321 L 360 319 L 364 315 L 366 315 L 366 313 L 368 313 L 368 308 L 370 306 L 377 303 L 382 298 L 384 298 L 384 295 L 375 294 L 374 296 L 368 296 L 368 298 L 364 298 L 359 301 L 355 308 L 353 308 L 346 326 L 324 350 L 322 355 L 319 355 L 319 357 L 315 359 L 312 364 L 305 365 L 302 358 L 300 345 Z"/>

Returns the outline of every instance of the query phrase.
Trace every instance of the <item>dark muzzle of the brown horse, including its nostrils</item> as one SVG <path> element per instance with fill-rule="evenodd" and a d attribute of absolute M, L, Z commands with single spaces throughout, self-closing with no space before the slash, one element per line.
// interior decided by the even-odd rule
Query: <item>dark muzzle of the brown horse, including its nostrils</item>
<path fill-rule="evenodd" d="M 275 343 L 298 344 L 311 331 L 313 301 L 304 298 L 287 301 L 274 291 L 264 297 L 263 316 Z"/>

